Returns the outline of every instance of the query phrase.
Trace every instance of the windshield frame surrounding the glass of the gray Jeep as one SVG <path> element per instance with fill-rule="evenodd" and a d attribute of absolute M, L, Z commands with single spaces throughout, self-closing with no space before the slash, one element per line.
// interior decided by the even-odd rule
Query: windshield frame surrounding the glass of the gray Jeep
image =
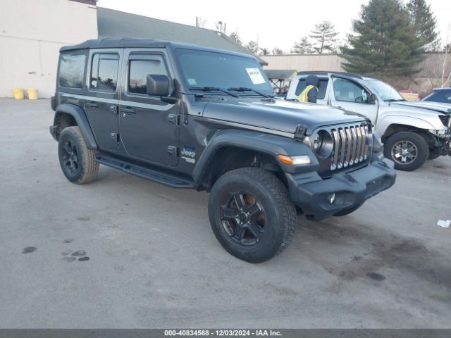
<path fill-rule="evenodd" d="M 185 79 L 185 74 L 183 72 L 183 66 L 180 62 L 180 51 L 194 51 L 194 52 L 198 52 L 199 54 L 204 54 L 204 53 L 208 53 L 208 54 L 218 54 L 218 55 L 224 55 L 227 57 L 236 57 L 236 58 L 243 58 L 246 61 L 252 61 L 255 63 L 255 67 L 254 68 L 259 68 L 259 71 L 261 73 L 261 76 L 264 78 L 266 85 L 268 87 L 268 89 L 261 89 L 258 87 L 254 87 L 252 86 L 251 89 L 255 89 L 257 90 L 257 92 L 263 92 L 265 95 L 268 96 L 273 96 L 274 95 L 274 89 L 273 86 L 271 85 L 271 81 L 268 79 L 268 76 L 266 75 L 266 73 L 264 72 L 263 68 L 261 67 L 259 61 L 257 60 L 257 58 L 255 58 L 254 56 L 248 55 L 248 54 L 240 54 L 240 53 L 235 53 L 233 51 L 224 51 L 224 50 L 218 50 L 218 49 L 208 49 L 208 48 L 203 48 L 203 47 L 199 47 L 197 48 L 190 48 L 190 47 L 185 47 L 185 46 L 176 46 L 175 48 L 172 49 L 172 59 L 173 59 L 173 63 L 175 64 L 175 67 L 177 68 L 177 73 L 178 73 L 178 79 L 180 82 L 180 87 L 182 89 L 183 94 L 202 94 L 202 95 L 207 95 L 207 96 L 229 96 L 228 94 L 226 94 L 226 92 L 228 90 L 228 87 L 230 86 L 226 86 L 226 87 L 220 87 L 218 86 L 217 83 L 213 83 L 210 84 L 209 86 L 206 87 L 218 87 L 221 90 L 218 91 L 199 91 L 199 90 L 191 90 L 190 87 L 205 87 L 205 86 L 198 86 L 198 85 L 192 85 L 189 84 L 187 82 L 187 79 Z M 237 87 L 242 87 L 242 86 L 237 86 Z M 253 90 L 251 91 L 245 91 L 245 92 L 233 92 L 233 94 L 237 94 L 240 97 L 243 96 L 248 96 L 248 97 L 254 97 L 254 96 L 261 96 L 259 94 L 257 94 L 256 92 L 254 92 Z M 233 96 L 230 96 L 230 98 L 233 98 Z"/>

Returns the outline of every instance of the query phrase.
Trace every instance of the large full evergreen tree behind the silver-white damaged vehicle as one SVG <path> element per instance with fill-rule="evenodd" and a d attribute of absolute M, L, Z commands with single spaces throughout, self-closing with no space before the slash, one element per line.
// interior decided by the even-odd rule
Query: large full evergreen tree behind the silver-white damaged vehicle
<path fill-rule="evenodd" d="M 419 72 L 424 53 L 410 16 L 399 0 L 370 0 L 352 23 L 349 47 L 342 48 L 345 70 L 388 76 Z"/>

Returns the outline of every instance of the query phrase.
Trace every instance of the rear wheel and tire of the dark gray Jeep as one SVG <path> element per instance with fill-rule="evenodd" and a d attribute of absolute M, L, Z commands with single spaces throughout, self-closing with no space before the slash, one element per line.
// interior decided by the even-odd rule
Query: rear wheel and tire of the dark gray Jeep
<path fill-rule="evenodd" d="M 80 128 L 66 127 L 58 140 L 58 158 L 66 178 L 75 184 L 92 182 L 99 172 L 97 151 L 88 149 Z"/>

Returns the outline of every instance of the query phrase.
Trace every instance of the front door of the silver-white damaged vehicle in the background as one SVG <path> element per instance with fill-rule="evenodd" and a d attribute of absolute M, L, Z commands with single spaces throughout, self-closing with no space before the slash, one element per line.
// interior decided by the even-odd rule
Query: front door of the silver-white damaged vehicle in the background
<path fill-rule="evenodd" d="M 332 77 L 330 105 L 359 113 L 376 123 L 378 105 L 370 102 L 370 92 L 361 84 L 343 77 Z"/>

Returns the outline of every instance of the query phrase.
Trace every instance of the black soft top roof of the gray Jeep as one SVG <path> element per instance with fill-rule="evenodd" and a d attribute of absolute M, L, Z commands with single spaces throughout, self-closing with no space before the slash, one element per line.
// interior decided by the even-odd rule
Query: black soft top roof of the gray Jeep
<path fill-rule="evenodd" d="M 104 39 L 92 39 L 82 42 L 81 44 L 75 44 L 73 46 L 63 46 L 59 50 L 62 51 L 74 51 L 78 49 L 99 49 L 99 48 L 165 48 L 166 46 L 183 47 L 189 49 L 197 49 L 202 51 L 216 51 L 226 54 L 233 54 L 239 56 L 246 56 L 252 58 L 249 54 L 237 53 L 235 51 L 228 51 L 223 49 L 214 49 L 204 46 L 197 46 L 195 44 L 185 44 L 183 42 L 169 42 L 152 39 L 138 39 L 135 37 L 122 37 L 120 39 L 104 38 Z"/>

